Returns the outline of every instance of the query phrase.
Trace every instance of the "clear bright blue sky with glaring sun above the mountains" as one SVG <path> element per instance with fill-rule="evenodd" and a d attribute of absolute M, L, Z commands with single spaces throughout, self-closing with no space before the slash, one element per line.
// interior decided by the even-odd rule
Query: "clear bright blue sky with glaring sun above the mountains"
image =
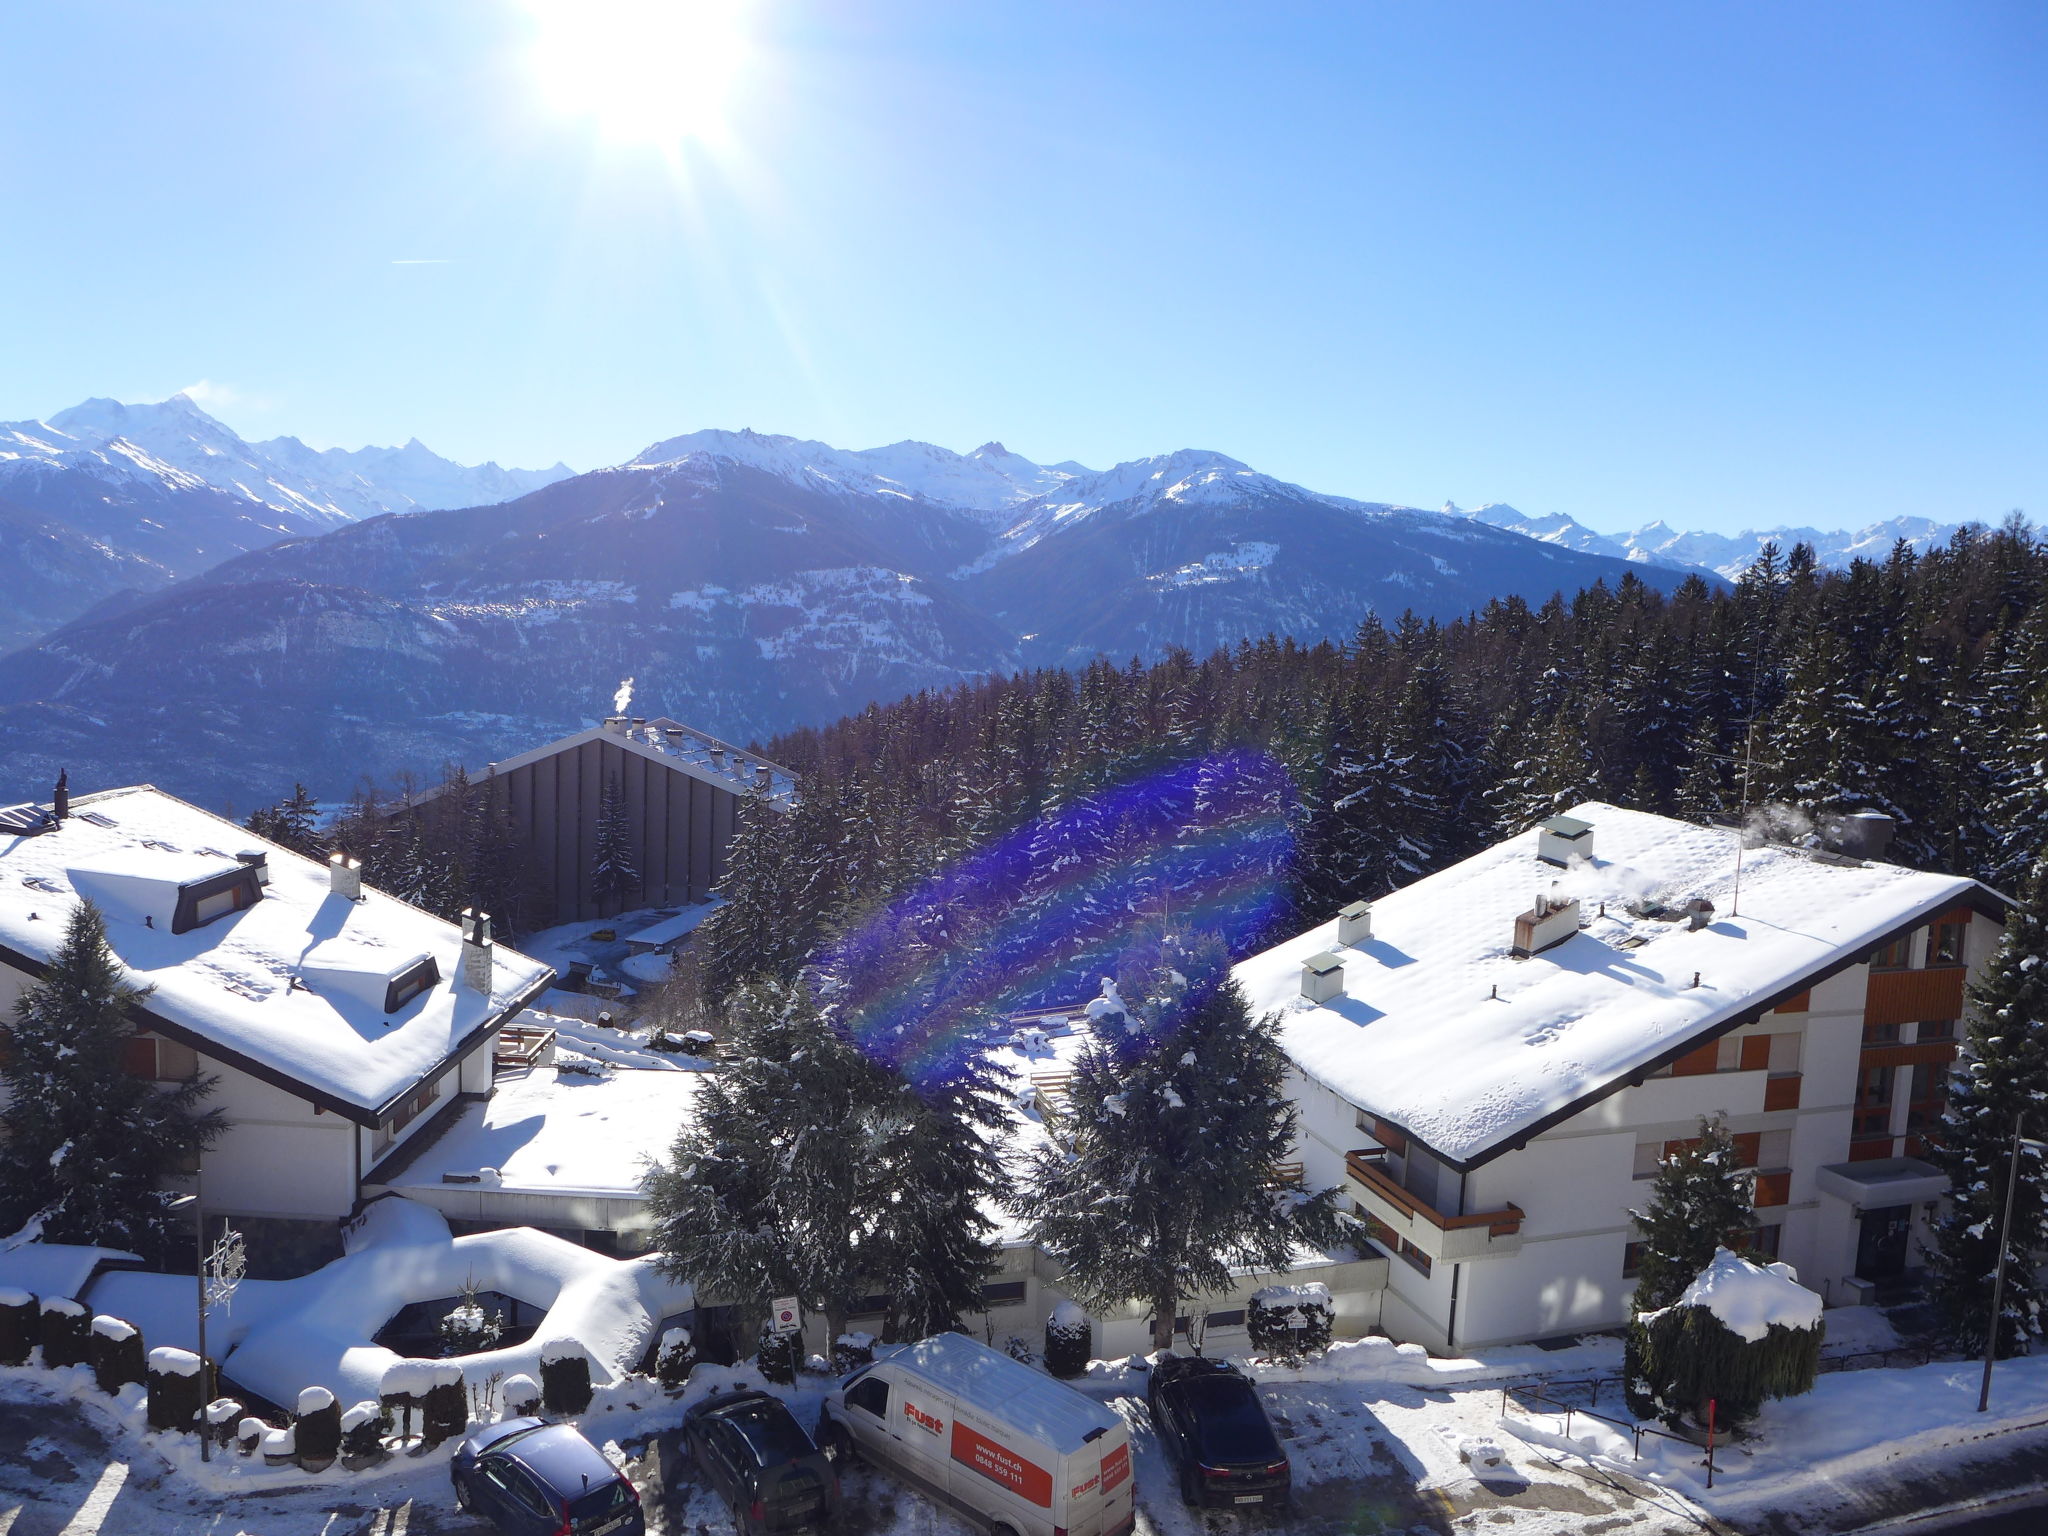
<path fill-rule="evenodd" d="M 2048 516 L 2034 0 L 709 2 L 737 47 L 596 88 L 520 0 L 10 8 L 0 418 L 205 381 L 520 465 L 754 426 Z"/>

